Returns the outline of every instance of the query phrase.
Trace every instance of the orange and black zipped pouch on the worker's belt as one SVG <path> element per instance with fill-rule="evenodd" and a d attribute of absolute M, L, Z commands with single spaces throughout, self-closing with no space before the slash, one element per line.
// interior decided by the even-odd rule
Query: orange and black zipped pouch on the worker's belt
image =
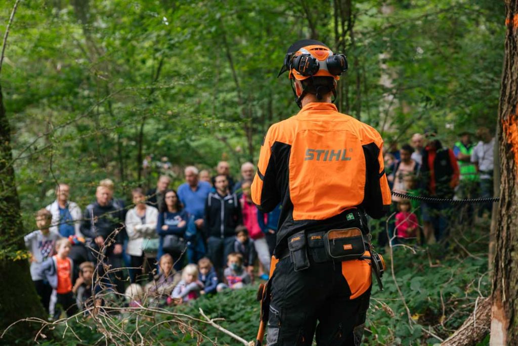
<path fill-rule="evenodd" d="M 324 247 L 332 260 L 358 259 L 365 253 L 365 240 L 359 228 L 332 229 L 324 235 Z"/>

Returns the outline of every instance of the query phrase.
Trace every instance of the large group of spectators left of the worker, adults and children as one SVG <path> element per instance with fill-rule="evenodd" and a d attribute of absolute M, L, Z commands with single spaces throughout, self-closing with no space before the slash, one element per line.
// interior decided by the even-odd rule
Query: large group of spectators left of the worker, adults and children
<path fill-rule="evenodd" d="M 133 189 L 127 207 L 103 179 L 82 213 L 69 200 L 70 186 L 59 184 L 55 201 L 36 213 L 37 230 L 25 236 L 49 316 L 94 311 L 106 292 L 129 306 L 144 296 L 178 305 L 267 280 L 279 211 L 263 214 L 252 203 L 252 163 L 242 165 L 237 183 L 227 162 L 216 171 L 210 177 L 186 167 L 177 190 L 161 175 L 156 188 Z"/>

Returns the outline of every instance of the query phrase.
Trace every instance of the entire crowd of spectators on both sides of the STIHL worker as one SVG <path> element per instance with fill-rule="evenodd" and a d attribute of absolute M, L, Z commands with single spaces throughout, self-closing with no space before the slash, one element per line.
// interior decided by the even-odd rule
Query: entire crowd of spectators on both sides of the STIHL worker
<path fill-rule="evenodd" d="M 391 143 L 384 154 L 391 189 L 440 199 L 491 197 L 494 139 L 485 128 L 477 136 L 475 144 L 471 133 L 462 132 L 448 148 L 429 128 L 399 149 Z M 225 161 L 213 176 L 186 167 L 177 190 L 161 175 L 155 188 L 133 189 L 127 207 L 114 196 L 114 183 L 104 179 L 82 213 L 69 199 L 70 187 L 59 184 L 55 201 L 36 213 L 37 230 L 25 236 L 32 279 L 49 315 L 95 309 L 103 302 L 96 295 L 107 290 L 130 297 L 130 306 L 142 304 L 143 296 L 177 305 L 267 280 L 281 207 L 267 214 L 257 210 L 250 196 L 251 162 L 242 164 L 235 183 L 230 172 Z M 441 242 L 451 211 L 451 203 L 394 196 L 377 245 Z M 491 204 L 455 215 L 471 222 L 476 211 L 482 217 Z"/>

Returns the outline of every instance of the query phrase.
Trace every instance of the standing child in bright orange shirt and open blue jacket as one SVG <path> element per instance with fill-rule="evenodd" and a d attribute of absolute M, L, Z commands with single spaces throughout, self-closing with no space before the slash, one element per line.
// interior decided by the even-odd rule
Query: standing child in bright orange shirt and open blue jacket
<path fill-rule="evenodd" d="M 74 293 L 72 293 L 74 262 L 68 257 L 70 247 L 70 242 L 66 238 L 56 241 L 57 255 L 48 258 L 39 269 L 40 275 L 47 278 L 52 288 L 56 290 L 57 303 L 65 309 L 67 317 L 78 311 Z M 59 314 L 55 313 L 54 318 L 57 319 L 57 317 Z"/>

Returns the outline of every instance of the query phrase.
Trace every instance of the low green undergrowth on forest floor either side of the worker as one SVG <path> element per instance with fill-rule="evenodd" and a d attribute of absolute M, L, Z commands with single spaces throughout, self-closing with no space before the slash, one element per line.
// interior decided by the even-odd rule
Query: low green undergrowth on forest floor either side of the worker
<path fill-rule="evenodd" d="M 488 229 L 487 220 L 482 219 L 471 227 L 454 227 L 448 244 L 385 249 L 384 290 L 376 283 L 372 286 L 364 344 L 438 345 L 447 339 L 491 292 Z M 111 344 L 117 340 L 121 344 L 240 344 L 207 323 L 200 309 L 221 327 L 254 340 L 259 316 L 256 290 L 257 284 L 202 297 L 192 305 L 139 313 L 121 308 L 96 319 L 69 319 L 47 326 L 55 330 L 42 330 L 47 340 L 39 337 L 38 341 L 44 345 Z M 485 344 L 487 338 L 480 343 Z"/>

